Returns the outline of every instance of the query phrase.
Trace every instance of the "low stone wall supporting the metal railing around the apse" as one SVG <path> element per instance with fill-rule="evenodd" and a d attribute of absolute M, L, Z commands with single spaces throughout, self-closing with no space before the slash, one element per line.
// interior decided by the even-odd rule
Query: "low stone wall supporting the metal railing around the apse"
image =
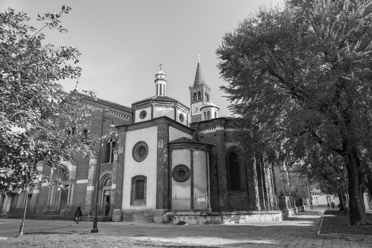
<path fill-rule="evenodd" d="M 296 208 L 283 209 L 278 211 L 244 211 L 244 212 L 167 212 L 164 216 L 164 223 L 177 223 L 185 221 L 189 224 L 235 224 L 235 223 L 260 223 L 279 222 L 306 211 L 311 205 Z"/>

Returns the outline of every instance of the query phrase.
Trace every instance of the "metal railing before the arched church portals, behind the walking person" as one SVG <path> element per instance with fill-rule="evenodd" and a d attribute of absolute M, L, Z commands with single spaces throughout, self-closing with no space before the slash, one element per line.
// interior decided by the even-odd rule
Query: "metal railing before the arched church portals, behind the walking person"
<path fill-rule="evenodd" d="M 94 217 L 94 205 L 28 205 L 26 208 L 26 218 L 30 219 L 74 219 L 76 208 L 81 208 L 83 218 L 90 215 Z M 98 221 L 107 221 L 112 219 L 113 205 L 99 205 L 97 208 Z M 9 218 L 22 218 L 25 211 L 24 206 L 10 206 Z"/>

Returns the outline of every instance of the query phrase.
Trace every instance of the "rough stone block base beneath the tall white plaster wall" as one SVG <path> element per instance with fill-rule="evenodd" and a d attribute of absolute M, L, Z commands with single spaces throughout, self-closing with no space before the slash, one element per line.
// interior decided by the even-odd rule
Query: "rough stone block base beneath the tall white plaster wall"
<path fill-rule="evenodd" d="M 114 209 L 112 221 L 164 223 L 166 209 Z"/>

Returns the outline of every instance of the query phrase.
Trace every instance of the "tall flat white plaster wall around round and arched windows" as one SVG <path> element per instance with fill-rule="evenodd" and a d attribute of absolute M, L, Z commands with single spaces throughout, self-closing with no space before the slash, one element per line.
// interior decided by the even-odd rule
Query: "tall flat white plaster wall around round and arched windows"
<path fill-rule="evenodd" d="M 145 141 L 148 154 L 145 160 L 137 162 L 132 157 L 133 146 L 138 141 Z M 123 209 L 155 208 L 156 203 L 156 164 L 157 164 L 157 126 L 126 132 L 123 179 Z M 130 205 L 131 180 L 137 175 L 147 177 L 146 205 Z"/>

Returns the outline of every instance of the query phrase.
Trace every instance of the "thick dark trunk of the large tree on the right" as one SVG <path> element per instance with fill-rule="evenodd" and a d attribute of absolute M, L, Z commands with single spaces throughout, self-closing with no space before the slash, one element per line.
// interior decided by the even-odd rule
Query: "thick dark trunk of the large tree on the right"
<path fill-rule="evenodd" d="M 349 179 L 350 225 L 367 225 L 370 222 L 367 219 L 363 203 L 363 185 L 359 172 L 360 161 L 355 149 L 350 148 L 349 151 L 345 163 Z"/>

